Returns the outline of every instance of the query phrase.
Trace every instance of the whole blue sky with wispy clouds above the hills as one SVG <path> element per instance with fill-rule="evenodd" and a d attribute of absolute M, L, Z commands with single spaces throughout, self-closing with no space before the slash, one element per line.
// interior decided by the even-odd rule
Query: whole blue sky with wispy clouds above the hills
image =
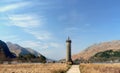
<path fill-rule="evenodd" d="M 0 39 L 48 58 L 65 58 L 104 41 L 120 40 L 119 0 L 1 0 Z"/>

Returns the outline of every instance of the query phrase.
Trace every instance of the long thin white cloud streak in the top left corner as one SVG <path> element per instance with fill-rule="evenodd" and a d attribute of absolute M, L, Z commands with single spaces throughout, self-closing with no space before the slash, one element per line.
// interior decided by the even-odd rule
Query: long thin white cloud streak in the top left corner
<path fill-rule="evenodd" d="M 30 5 L 31 2 L 19 2 L 19 3 L 14 3 L 14 4 L 9 4 L 6 6 L 1 6 L 0 7 L 0 12 L 6 12 L 10 10 L 14 10 L 17 8 L 25 7 L 26 5 Z"/>

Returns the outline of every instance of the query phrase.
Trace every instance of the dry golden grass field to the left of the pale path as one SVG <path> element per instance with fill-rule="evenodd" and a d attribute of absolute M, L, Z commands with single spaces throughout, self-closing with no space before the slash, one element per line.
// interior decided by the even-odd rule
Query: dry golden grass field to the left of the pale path
<path fill-rule="evenodd" d="M 65 73 L 66 64 L 0 64 L 0 73 Z"/>

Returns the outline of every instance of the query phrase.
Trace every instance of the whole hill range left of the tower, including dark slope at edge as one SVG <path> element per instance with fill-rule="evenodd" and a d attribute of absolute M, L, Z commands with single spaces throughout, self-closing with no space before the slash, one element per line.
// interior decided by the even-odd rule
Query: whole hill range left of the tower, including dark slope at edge
<path fill-rule="evenodd" d="M 12 59 L 15 58 L 15 59 Z M 18 60 L 19 62 L 46 62 L 46 57 L 30 49 L 11 42 L 0 40 L 0 63 L 4 60 Z"/>

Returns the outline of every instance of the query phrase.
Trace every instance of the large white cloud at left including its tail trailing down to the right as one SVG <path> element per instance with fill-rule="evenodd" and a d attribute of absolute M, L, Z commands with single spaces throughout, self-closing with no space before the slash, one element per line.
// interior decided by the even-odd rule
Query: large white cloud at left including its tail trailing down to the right
<path fill-rule="evenodd" d="M 36 31 L 36 29 L 41 28 L 45 23 L 45 18 L 42 16 L 38 17 L 32 14 L 10 15 L 9 20 L 11 24 L 7 25 L 21 27 L 25 32 L 31 34 L 38 40 L 45 41 L 52 38 L 52 34 L 48 31 L 44 31 L 43 29 Z"/>

